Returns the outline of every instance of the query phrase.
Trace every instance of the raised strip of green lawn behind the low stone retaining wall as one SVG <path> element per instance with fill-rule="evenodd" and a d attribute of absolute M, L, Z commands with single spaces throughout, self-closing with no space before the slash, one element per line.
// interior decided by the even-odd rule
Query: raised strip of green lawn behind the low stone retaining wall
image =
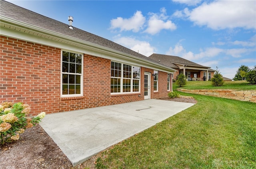
<path fill-rule="evenodd" d="M 176 83 L 173 83 L 173 89 L 178 88 Z M 256 90 L 256 85 L 249 84 L 245 80 L 226 81 L 223 86 L 212 86 L 211 81 L 188 81 L 187 85 L 180 87 L 182 89 L 237 89 L 237 90 Z"/>

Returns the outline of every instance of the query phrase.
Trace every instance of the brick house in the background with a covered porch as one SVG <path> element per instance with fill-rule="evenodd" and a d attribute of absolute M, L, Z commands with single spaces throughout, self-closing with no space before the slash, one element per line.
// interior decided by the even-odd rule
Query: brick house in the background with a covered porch
<path fill-rule="evenodd" d="M 187 80 L 208 81 L 211 80 L 215 72 L 215 70 L 210 69 L 208 66 L 202 66 L 178 56 L 152 54 L 149 58 L 175 69 L 174 79 L 179 74 L 184 74 Z"/>

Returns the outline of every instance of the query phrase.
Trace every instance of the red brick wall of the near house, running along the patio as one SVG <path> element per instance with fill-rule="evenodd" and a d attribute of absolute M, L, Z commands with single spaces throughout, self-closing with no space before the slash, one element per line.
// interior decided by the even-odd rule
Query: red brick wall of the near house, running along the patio
<path fill-rule="evenodd" d="M 111 95 L 111 60 L 84 54 L 84 95 L 60 97 L 61 49 L 5 36 L 0 36 L 0 47 L 0 103 L 27 103 L 31 116 L 143 100 L 144 72 L 154 72 L 141 68 L 141 93 Z M 151 98 L 167 96 L 167 73 L 159 72 L 158 92 L 153 84 L 151 78 Z"/>

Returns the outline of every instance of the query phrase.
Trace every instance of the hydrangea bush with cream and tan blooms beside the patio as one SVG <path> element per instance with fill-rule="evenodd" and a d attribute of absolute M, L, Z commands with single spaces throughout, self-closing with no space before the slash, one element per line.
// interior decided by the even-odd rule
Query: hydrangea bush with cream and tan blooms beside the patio
<path fill-rule="evenodd" d="M 28 118 L 30 106 L 6 101 L 0 105 L 0 146 L 18 140 L 25 129 L 33 127 L 45 116 L 45 112 Z"/>

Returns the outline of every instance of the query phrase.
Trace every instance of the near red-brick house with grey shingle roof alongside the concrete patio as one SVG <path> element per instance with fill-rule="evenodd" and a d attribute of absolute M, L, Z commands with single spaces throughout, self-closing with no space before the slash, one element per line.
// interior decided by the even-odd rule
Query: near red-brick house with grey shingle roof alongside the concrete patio
<path fill-rule="evenodd" d="M 30 115 L 166 97 L 175 70 L 124 46 L 0 1 L 0 103 Z"/>

